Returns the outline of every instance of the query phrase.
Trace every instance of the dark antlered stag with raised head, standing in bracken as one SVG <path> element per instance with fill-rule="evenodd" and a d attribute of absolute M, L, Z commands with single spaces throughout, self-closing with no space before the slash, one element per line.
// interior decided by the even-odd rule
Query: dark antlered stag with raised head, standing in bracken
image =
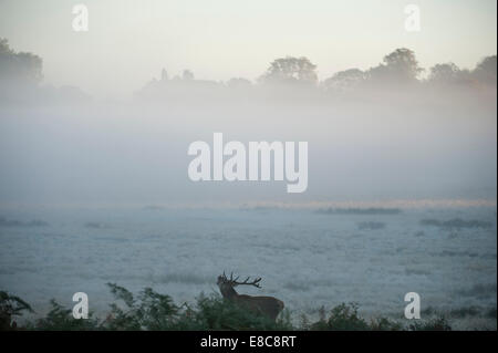
<path fill-rule="evenodd" d="M 228 279 L 225 276 L 225 272 L 224 274 L 218 277 L 217 284 L 224 298 L 243 308 L 247 308 L 255 313 L 266 315 L 267 318 L 274 321 L 279 313 L 283 310 L 283 302 L 273 297 L 251 297 L 237 293 L 234 289 L 234 287 L 236 285 L 247 284 L 261 288 L 261 285 L 259 284 L 261 278 L 257 278 L 252 282 L 249 282 L 249 277 L 243 282 L 238 282 L 238 277 L 234 279 L 234 273 L 231 273 L 230 278 Z"/>

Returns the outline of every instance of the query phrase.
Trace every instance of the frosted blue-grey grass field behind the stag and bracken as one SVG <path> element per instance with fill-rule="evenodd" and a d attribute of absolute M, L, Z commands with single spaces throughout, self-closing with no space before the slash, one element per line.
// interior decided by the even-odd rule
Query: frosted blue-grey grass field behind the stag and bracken
<path fill-rule="evenodd" d="M 496 207 L 2 209 L 1 217 L 0 288 L 41 312 L 51 298 L 70 305 L 77 291 L 104 312 L 106 282 L 190 302 L 217 292 L 224 270 L 262 277 L 262 290 L 239 291 L 276 295 L 294 313 L 354 301 L 364 315 L 401 318 L 412 291 L 422 309 L 496 308 Z M 455 219 L 466 227 L 440 226 Z"/>

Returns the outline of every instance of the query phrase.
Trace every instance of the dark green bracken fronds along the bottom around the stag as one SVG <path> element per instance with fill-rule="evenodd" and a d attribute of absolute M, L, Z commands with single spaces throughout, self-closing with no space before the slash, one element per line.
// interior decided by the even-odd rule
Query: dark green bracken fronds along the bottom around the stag
<path fill-rule="evenodd" d="M 169 295 L 145 288 L 137 295 L 117 284 L 108 283 L 115 302 L 104 320 L 95 318 L 92 312 L 89 319 L 76 320 L 72 310 L 51 301 L 49 313 L 34 322 L 28 322 L 23 328 L 11 324 L 11 318 L 22 315 L 23 312 L 33 312 L 31 307 L 22 299 L 0 292 L 0 322 L 1 330 L 312 330 L 312 331 L 397 331 L 397 330 L 438 330 L 447 331 L 452 328 L 444 318 L 428 321 L 417 321 L 408 326 L 391 321 L 386 318 L 374 319 L 367 322 L 357 313 L 355 303 L 336 305 L 326 312 L 320 310 L 320 319 L 310 323 L 305 315 L 300 325 L 291 323 L 290 312 L 284 310 L 276 322 L 255 314 L 218 295 L 200 295 L 195 305 L 187 303 L 175 304 Z"/>

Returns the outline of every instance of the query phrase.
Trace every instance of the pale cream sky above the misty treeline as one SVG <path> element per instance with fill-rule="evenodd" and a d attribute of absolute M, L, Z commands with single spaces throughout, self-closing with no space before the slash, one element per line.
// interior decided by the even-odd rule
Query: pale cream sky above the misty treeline
<path fill-rule="evenodd" d="M 77 3 L 89 8 L 89 32 L 72 29 Z M 404 29 L 408 3 L 421 8 L 421 32 Z M 496 15 L 495 0 L 0 0 L 0 37 L 43 58 L 48 84 L 123 96 L 162 68 L 255 80 L 286 55 L 308 56 L 321 80 L 402 46 L 424 68 L 471 69 L 497 52 Z"/>

